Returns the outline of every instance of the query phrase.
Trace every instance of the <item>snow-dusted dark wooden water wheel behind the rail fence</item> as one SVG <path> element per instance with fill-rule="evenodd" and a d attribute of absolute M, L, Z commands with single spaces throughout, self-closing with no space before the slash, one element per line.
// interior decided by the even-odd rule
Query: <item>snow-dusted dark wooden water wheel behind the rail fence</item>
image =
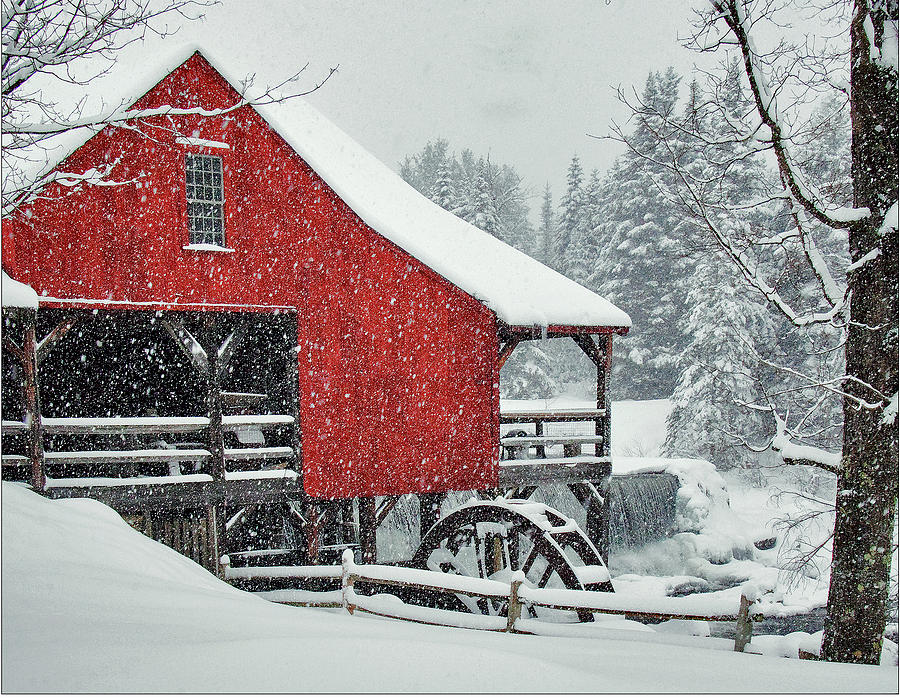
<path fill-rule="evenodd" d="M 526 586 L 613 591 L 600 553 L 575 521 L 526 500 L 470 502 L 456 509 L 425 534 L 412 565 L 503 582 L 521 570 Z M 485 615 L 506 613 L 505 601 L 463 595 L 453 595 L 445 607 Z M 551 609 L 528 611 L 532 617 L 574 619 L 572 613 Z M 579 612 L 578 620 L 591 621 L 593 615 Z"/>

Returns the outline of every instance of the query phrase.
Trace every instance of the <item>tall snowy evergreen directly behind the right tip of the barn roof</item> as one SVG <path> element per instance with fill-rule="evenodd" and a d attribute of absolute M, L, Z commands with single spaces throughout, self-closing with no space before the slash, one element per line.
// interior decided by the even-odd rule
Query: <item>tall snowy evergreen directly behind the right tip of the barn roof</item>
<path fill-rule="evenodd" d="M 678 102 L 679 77 L 672 68 L 651 73 L 641 98 L 653 113 L 671 116 Z M 660 139 L 671 135 L 664 119 L 641 115 L 630 142 L 649 153 L 628 151 L 611 168 L 602 187 L 598 256 L 588 285 L 631 315 L 633 327 L 617 344 L 614 395 L 635 399 L 668 397 L 678 380 L 677 364 L 686 346 L 680 330 L 686 277 L 686 250 L 696 229 L 669 191 L 671 175 L 657 164 L 685 152 Z"/>

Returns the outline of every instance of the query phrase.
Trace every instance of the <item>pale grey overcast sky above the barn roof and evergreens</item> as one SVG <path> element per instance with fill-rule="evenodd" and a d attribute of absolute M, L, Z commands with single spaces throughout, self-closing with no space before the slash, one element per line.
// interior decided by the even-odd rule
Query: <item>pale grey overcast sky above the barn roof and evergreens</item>
<path fill-rule="evenodd" d="M 353 138 L 397 168 L 429 139 L 490 150 L 539 193 L 556 198 L 573 153 L 605 170 L 606 134 L 626 110 L 613 88 L 640 89 L 650 70 L 688 72 L 697 56 L 678 43 L 687 0 L 575 2 L 307 2 L 224 0 L 165 40 L 227 56 L 241 76 L 276 80 L 309 63 L 310 81 L 339 72 L 308 97 Z M 153 63 L 155 41 L 123 52 L 116 73 Z M 538 206 L 532 199 L 532 208 Z"/>

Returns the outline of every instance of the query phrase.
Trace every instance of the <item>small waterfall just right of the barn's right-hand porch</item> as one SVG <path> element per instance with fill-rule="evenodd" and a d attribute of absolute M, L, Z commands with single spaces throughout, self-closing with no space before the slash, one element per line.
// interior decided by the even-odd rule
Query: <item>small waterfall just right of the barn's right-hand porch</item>
<path fill-rule="evenodd" d="M 675 495 L 681 486 L 669 473 L 613 475 L 610 479 L 610 548 L 636 548 L 675 532 Z"/>

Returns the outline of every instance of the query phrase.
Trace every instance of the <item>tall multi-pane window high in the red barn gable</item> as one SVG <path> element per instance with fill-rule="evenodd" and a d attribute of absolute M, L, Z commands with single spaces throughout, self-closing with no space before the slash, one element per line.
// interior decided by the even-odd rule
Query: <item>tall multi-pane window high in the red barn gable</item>
<path fill-rule="evenodd" d="M 191 245 L 225 247 L 225 185 L 222 158 L 188 154 L 185 191 Z"/>

